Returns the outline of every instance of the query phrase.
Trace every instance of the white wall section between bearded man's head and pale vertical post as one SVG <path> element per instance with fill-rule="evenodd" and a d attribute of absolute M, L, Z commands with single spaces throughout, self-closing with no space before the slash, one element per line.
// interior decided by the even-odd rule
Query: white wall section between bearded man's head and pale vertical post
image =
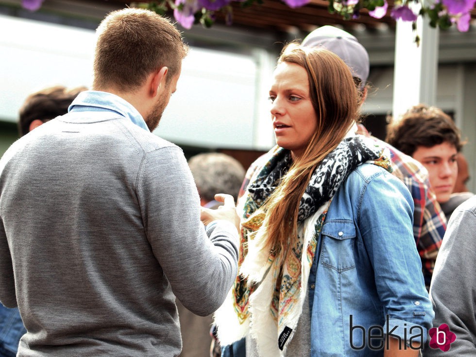
<path fill-rule="evenodd" d="M 252 58 L 192 48 L 156 133 L 188 145 L 253 148 Z"/>

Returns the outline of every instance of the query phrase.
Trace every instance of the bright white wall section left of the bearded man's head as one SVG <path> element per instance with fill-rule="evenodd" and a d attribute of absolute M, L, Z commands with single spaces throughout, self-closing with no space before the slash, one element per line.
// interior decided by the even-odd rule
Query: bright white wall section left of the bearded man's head
<path fill-rule="evenodd" d="M 0 119 L 47 86 L 90 86 L 93 51 L 92 31 L 0 15 Z"/>

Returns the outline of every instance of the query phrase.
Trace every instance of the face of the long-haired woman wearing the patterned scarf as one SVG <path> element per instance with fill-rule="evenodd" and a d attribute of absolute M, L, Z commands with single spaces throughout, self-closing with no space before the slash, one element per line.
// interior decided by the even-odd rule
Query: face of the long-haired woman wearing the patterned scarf
<path fill-rule="evenodd" d="M 300 156 L 317 130 L 306 69 L 280 63 L 274 70 L 270 100 L 276 144 L 289 149 L 292 157 Z"/>

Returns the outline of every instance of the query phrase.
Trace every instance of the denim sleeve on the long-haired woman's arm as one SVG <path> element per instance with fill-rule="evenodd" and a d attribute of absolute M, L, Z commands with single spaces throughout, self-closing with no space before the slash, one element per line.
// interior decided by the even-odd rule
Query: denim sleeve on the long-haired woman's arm
<path fill-rule="evenodd" d="M 432 325 L 433 309 L 412 232 L 413 200 L 393 175 L 380 174 L 362 192 L 357 224 L 374 268 L 375 286 L 384 307 L 384 331 L 401 339 Z M 413 331 L 412 331 L 413 330 Z"/>

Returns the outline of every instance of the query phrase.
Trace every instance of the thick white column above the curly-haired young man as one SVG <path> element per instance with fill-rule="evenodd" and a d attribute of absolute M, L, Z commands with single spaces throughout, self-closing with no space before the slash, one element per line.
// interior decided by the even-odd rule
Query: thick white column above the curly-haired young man
<path fill-rule="evenodd" d="M 418 13 L 419 9 L 413 8 Z M 428 18 L 417 20 L 417 31 L 411 22 L 397 21 L 393 75 L 393 120 L 412 105 L 436 104 L 439 30 L 429 26 Z M 420 37 L 420 46 L 414 42 Z"/>

